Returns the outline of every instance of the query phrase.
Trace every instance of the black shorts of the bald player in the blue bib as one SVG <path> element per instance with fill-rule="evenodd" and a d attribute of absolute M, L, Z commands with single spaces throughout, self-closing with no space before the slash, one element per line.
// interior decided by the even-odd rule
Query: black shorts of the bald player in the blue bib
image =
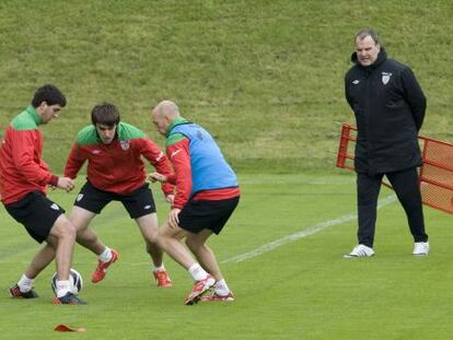
<path fill-rule="evenodd" d="M 239 200 L 239 196 L 218 201 L 190 199 L 179 212 L 179 226 L 196 234 L 204 228 L 220 234 Z"/>

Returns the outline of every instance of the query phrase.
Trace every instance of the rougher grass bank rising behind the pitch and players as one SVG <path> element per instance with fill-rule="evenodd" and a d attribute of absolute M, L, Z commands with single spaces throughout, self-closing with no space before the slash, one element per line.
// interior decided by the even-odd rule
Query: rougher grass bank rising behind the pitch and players
<path fill-rule="evenodd" d="M 422 133 L 453 141 L 452 16 L 446 0 L 5 0 L 0 126 L 54 82 L 69 99 L 45 128 L 57 173 L 103 101 L 162 143 L 149 112 L 163 98 L 206 125 L 239 171 L 328 169 L 337 122 L 353 120 L 342 90 L 352 37 L 373 26 L 427 93 Z"/>

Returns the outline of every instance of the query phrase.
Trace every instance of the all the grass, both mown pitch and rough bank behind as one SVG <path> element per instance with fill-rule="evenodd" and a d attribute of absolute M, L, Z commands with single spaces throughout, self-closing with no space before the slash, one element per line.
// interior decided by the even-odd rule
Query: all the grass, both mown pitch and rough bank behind
<path fill-rule="evenodd" d="M 38 246 L 0 209 L 0 339 L 451 339 L 452 216 L 426 209 L 432 253 L 414 258 L 402 208 L 383 189 L 376 256 L 345 260 L 356 244 L 355 178 L 334 162 L 339 125 L 353 121 L 344 74 L 365 26 L 426 92 L 421 134 L 453 142 L 452 17 L 451 0 L 1 1 L 1 130 L 38 85 L 60 86 L 68 106 L 43 127 L 44 159 L 60 174 L 95 104 L 118 105 L 163 145 L 149 112 L 170 98 L 211 131 L 243 196 L 210 242 L 237 298 L 193 307 L 183 305 L 189 277 L 172 260 L 175 286 L 154 286 L 119 204 L 93 223 L 121 254 L 104 282 L 90 282 L 95 257 L 76 249 L 88 306 L 50 304 L 54 268 L 36 282 L 39 298 L 10 298 Z M 74 195 L 50 192 L 68 210 Z M 56 333 L 57 324 L 88 332 Z"/>

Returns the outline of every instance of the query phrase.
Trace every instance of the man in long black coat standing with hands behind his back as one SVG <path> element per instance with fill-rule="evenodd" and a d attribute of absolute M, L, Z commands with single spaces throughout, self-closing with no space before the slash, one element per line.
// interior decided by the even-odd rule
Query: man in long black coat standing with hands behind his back
<path fill-rule="evenodd" d="M 385 175 L 402 203 L 414 236 L 414 255 L 428 255 L 428 235 L 417 167 L 421 165 L 418 131 L 426 97 L 413 71 L 387 59 L 372 30 L 356 36 L 356 65 L 345 77 L 346 99 L 356 115 L 359 245 L 345 257 L 373 256 L 378 196 Z"/>

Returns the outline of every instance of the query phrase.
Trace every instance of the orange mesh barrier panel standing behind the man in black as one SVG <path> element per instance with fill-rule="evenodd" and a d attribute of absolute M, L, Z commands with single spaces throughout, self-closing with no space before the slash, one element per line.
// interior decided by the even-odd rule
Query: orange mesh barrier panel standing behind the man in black
<path fill-rule="evenodd" d="M 337 167 L 353 171 L 357 128 L 341 127 Z M 423 164 L 420 167 L 420 191 L 423 204 L 453 213 L 453 144 L 419 137 Z M 391 187 L 388 183 L 384 185 Z"/>

